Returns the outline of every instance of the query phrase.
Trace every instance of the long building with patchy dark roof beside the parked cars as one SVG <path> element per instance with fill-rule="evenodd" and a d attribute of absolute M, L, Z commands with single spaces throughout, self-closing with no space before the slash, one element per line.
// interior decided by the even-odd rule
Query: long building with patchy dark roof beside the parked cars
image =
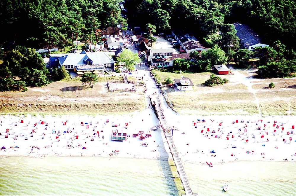
<path fill-rule="evenodd" d="M 192 51 L 201 52 L 202 50 L 208 49 L 206 47 L 203 47 L 202 44 L 193 35 L 190 35 L 188 33 L 182 31 L 172 31 L 172 35 L 187 53 L 190 53 Z"/>

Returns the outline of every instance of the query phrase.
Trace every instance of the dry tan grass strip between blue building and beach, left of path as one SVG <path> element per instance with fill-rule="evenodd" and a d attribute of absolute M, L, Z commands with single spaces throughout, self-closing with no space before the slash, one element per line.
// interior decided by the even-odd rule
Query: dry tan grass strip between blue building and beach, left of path
<path fill-rule="evenodd" d="M 2 113 L 38 114 L 112 114 L 145 108 L 143 87 L 134 92 L 107 92 L 106 81 L 123 77 L 101 77 L 93 88 L 81 85 L 79 79 L 52 82 L 43 87 L 29 87 L 26 92 L 1 92 Z"/>

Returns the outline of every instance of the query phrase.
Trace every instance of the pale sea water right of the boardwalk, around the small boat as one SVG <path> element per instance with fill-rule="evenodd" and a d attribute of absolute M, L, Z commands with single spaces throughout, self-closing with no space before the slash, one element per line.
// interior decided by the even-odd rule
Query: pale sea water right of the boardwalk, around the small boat
<path fill-rule="evenodd" d="M 202 195 L 296 195 L 296 162 L 185 163 L 193 192 Z M 229 191 L 222 186 L 227 183 Z"/>

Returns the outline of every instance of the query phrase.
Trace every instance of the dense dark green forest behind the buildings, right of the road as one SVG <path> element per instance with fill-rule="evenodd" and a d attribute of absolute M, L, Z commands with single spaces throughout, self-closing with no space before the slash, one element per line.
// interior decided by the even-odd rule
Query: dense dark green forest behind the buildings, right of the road
<path fill-rule="evenodd" d="M 147 23 L 158 32 L 184 29 L 197 38 L 217 33 L 223 24 L 250 26 L 263 42 L 276 40 L 288 48 L 296 46 L 296 2 L 273 0 L 126 0 L 131 26 Z"/>

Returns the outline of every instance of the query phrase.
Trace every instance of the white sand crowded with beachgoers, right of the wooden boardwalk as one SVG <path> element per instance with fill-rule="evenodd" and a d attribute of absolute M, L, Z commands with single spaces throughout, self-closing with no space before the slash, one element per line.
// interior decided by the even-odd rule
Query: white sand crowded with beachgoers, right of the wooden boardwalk
<path fill-rule="evenodd" d="M 205 119 L 205 122 L 198 122 L 197 128 L 195 128 L 194 122 L 197 122 L 197 119 Z M 244 122 L 241 122 L 242 119 Z M 260 119 L 262 122 L 259 121 Z M 236 120 L 238 123 L 235 123 Z M 277 123 L 274 123 L 275 120 Z M 182 130 L 174 131 L 173 138 L 183 161 L 217 164 L 234 160 L 296 160 L 296 136 L 295 129 L 292 129 L 292 125 L 295 125 L 296 128 L 295 117 L 196 117 L 184 115 L 178 121 L 180 123 L 177 123 L 177 126 L 181 124 Z M 268 123 L 268 121 L 270 122 Z M 221 126 L 219 126 L 220 122 L 222 122 Z M 233 122 L 234 124 L 232 124 Z M 276 125 L 273 126 L 273 124 Z M 277 125 L 279 128 L 276 128 Z M 258 130 L 259 127 L 261 130 Z M 209 132 L 207 128 L 210 129 Z M 244 132 L 245 129 L 247 132 Z M 201 133 L 202 130 L 204 130 L 203 133 Z M 273 135 L 274 130 L 276 130 L 275 135 Z M 290 134 L 288 135 L 287 132 Z M 291 132 L 293 133 L 291 134 Z M 264 137 L 261 138 L 262 135 Z M 219 138 L 215 138 L 215 136 Z M 283 139 L 286 141 L 284 142 Z M 236 148 L 232 148 L 233 146 Z M 215 153 L 210 153 L 212 150 Z M 247 151 L 250 153 L 247 154 Z"/>

